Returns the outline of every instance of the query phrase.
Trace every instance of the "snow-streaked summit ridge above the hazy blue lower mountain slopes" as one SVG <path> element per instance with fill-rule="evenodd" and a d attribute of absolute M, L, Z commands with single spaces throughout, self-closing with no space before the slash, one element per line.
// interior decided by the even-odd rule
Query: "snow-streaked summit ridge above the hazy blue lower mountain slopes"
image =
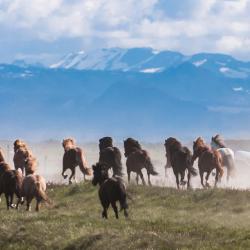
<path fill-rule="evenodd" d="M 80 51 L 66 55 L 50 68 L 160 73 L 185 62 L 229 78 L 250 77 L 250 62 L 239 61 L 229 55 L 199 53 L 185 56 L 178 52 L 157 51 L 151 48 Z"/>

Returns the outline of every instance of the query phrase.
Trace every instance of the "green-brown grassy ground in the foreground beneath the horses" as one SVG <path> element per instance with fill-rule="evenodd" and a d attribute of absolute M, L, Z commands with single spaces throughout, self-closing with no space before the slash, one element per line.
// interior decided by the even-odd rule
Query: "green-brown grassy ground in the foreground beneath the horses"
<path fill-rule="evenodd" d="M 130 186 L 130 217 L 101 219 L 90 183 L 50 187 L 40 213 L 0 203 L 0 249 L 249 249 L 250 192 Z M 4 198 L 4 197 L 2 197 Z M 34 206 L 33 206 L 34 208 Z"/>

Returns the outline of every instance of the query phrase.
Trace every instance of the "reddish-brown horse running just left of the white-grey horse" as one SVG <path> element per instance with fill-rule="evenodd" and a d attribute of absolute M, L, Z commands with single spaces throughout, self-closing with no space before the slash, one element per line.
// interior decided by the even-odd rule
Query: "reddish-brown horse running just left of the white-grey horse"
<path fill-rule="evenodd" d="M 204 140 L 199 137 L 196 141 L 193 142 L 193 159 L 194 162 L 196 158 L 198 158 L 198 167 L 201 177 L 201 185 L 203 187 L 209 187 L 208 184 L 208 178 L 211 174 L 212 170 L 216 170 L 215 175 L 215 186 L 217 185 L 217 182 L 219 179 L 221 179 L 223 175 L 223 168 L 222 168 L 222 159 L 219 152 L 216 150 L 212 150 L 209 146 L 207 146 L 204 142 Z M 206 175 L 206 185 L 204 185 L 203 182 L 203 175 L 204 173 L 207 173 Z"/>

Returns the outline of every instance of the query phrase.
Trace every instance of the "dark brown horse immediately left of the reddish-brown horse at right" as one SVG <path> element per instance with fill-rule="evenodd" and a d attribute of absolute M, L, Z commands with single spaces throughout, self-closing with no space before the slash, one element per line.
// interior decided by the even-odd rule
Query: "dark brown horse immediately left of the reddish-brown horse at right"
<path fill-rule="evenodd" d="M 165 140 L 164 146 L 166 150 L 167 166 L 172 166 L 173 168 L 177 188 L 180 188 L 179 185 L 186 185 L 184 181 L 186 170 L 188 170 L 187 188 L 190 188 L 191 175 L 197 175 L 195 168 L 193 168 L 191 151 L 187 147 L 182 146 L 181 143 L 173 137 L 169 137 Z M 181 176 L 181 182 L 179 182 L 179 175 Z"/>

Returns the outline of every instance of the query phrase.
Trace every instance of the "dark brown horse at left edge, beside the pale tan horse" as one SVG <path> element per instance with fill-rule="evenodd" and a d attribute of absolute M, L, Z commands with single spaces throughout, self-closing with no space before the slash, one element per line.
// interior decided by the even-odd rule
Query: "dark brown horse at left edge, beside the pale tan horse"
<path fill-rule="evenodd" d="M 14 194 L 18 198 L 16 209 L 21 203 L 21 185 L 22 174 L 18 170 L 11 170 L 10 166 L 5 163 L 0 163 L 0 196 L 5 194 L 7 209 L 14 208 Z"/>

